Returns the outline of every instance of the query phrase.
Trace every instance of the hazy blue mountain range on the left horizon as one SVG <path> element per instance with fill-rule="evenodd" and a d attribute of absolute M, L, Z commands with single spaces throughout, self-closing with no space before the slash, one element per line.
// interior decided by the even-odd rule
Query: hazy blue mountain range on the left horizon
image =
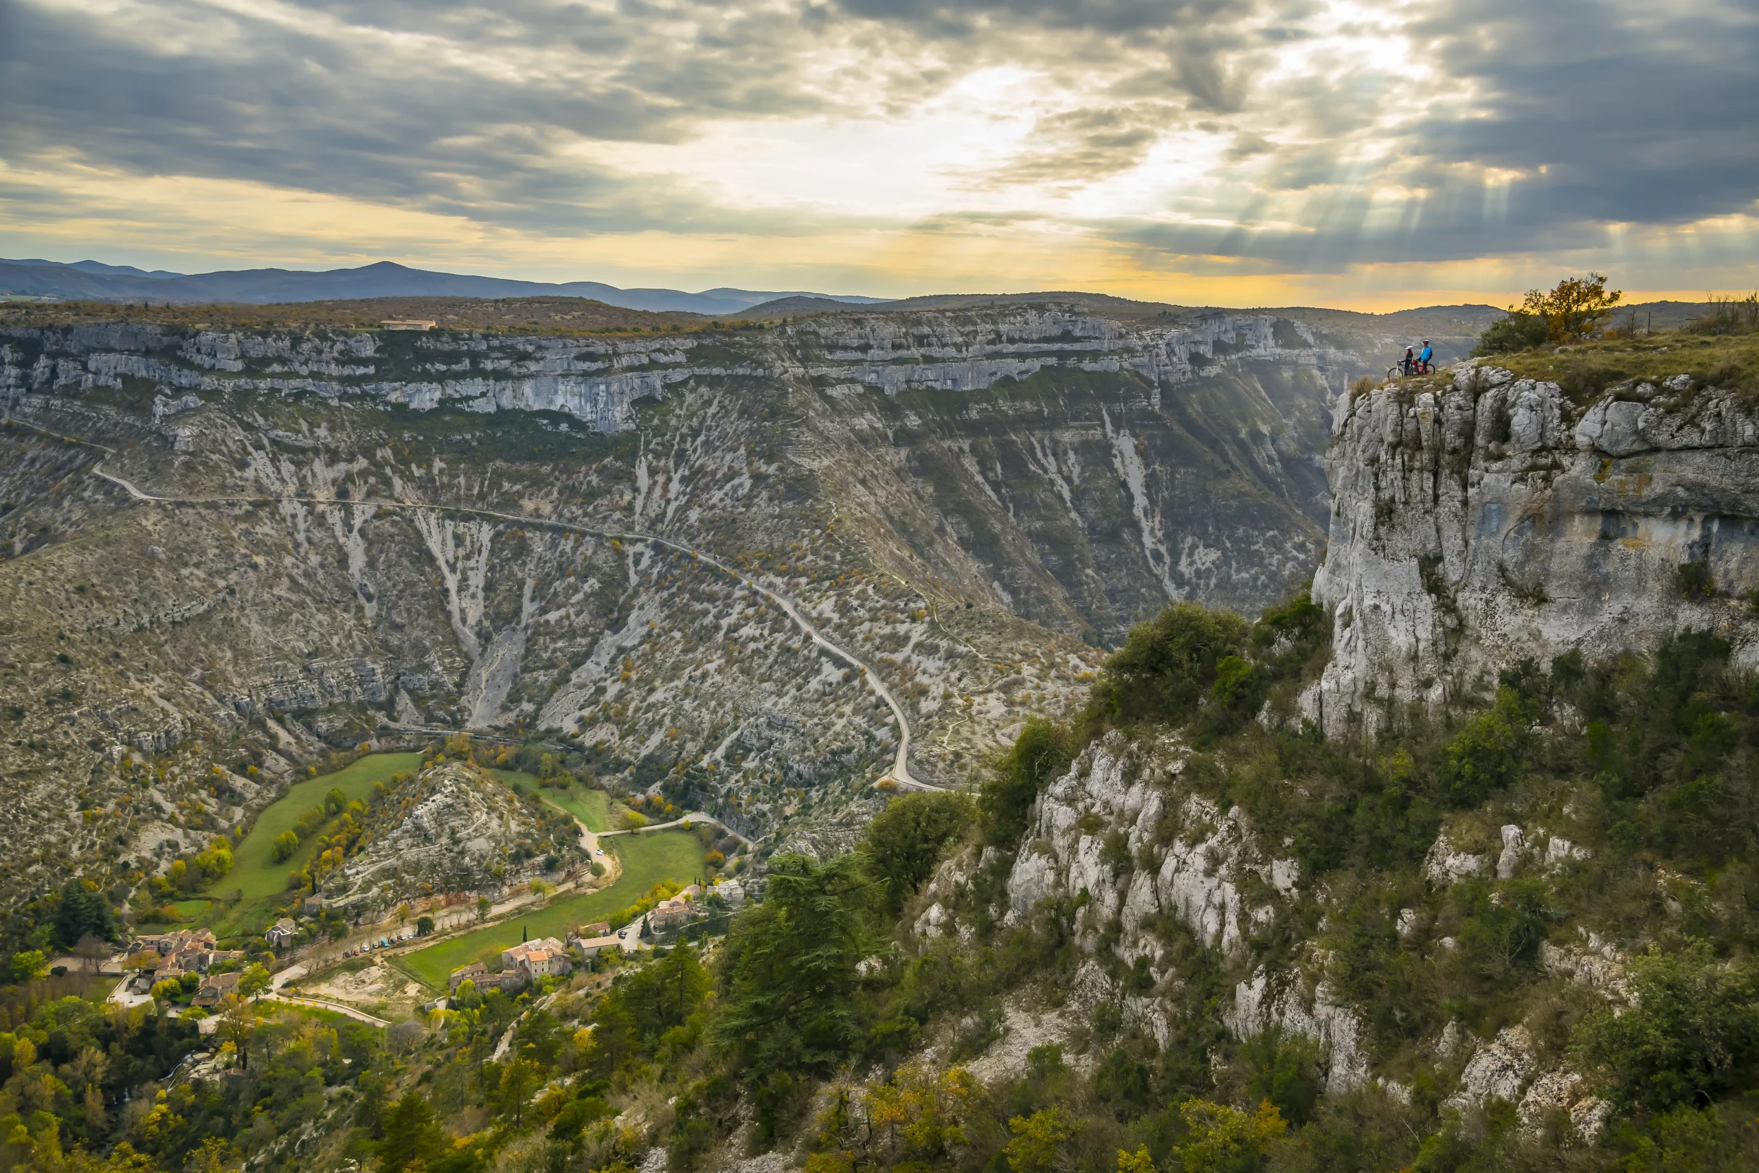
<path fill-rule="evenodd" d="M 153 302 L 288 302 L 357 301 L 362 297 L 591 297 L 623 310 L 739 313 L 781 297 L 813 297 L 846 304 L 874 304 L 883 297 L 813 294 L 802 290 L 617 288 L 602 281 L 512 281 L 461 273 L 410 269 L 382 260 L 359 269 L 232 269 L 223 273 L 148 273 L 99 260 L 0 260 L 0 294 L 53 295 L 77 301 Z"/>

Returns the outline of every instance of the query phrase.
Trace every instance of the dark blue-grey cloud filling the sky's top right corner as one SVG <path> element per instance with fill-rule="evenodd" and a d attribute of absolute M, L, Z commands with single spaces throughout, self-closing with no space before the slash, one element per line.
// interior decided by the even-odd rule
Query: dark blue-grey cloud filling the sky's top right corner
<path fill-rule="evenodd" d="M 1683 223 L 1759 199 L 1759 11 L 1453 0 L 1416 32 L 1483 114 L 1412 128 L 1430 158 L 1536 172 L 1511 220 Z M 1523 185 L 1523 188 L 1529 185 Z"/>

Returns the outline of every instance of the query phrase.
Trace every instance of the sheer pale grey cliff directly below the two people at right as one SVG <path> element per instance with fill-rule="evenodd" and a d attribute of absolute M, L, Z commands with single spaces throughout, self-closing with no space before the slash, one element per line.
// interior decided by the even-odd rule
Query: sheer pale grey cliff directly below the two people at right
<path fill-rule="evenodd" d="M 1388 705 L 1495 688 L 1523 658 L 1717 631 L 1759 661 L 1759 413 L 1680 375 L 1573 401 L 1462 366 L 1342 397 L 1314 598 L 1333 659 L 1303 698 L 1332 735 Z"/>

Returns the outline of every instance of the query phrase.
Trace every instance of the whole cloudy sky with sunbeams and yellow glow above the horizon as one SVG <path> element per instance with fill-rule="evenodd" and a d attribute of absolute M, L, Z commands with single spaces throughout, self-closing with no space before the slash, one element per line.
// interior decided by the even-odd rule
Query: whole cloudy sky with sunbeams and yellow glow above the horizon
<path fill-rule="evenodd" d="M 1752 0 L 0 0 L 0 255 L 1212 304 L 1759 285 Z"/>

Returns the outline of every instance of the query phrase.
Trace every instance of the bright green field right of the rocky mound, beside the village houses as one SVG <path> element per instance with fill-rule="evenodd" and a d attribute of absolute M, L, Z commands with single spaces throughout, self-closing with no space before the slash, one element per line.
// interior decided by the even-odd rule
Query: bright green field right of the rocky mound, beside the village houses
<path fill-rule="evenodd" d="M 702 844 L 690 832 L 619 835 L 605 848 L 623 858 L 623 876 L 612 886 L 563 897 L 515 920 L 429 944 L 426 950 L 399 957 L 399 967 L 417 981 L 443 990 L 447 974 L 477 960 L 484 950 L 519 944 L 521 932 L 528 937 L 561 937 L 577 923 L 605 920 L 619 907 L 628 907 L 661 879 L 691 883 L 702 874 Z"/>

